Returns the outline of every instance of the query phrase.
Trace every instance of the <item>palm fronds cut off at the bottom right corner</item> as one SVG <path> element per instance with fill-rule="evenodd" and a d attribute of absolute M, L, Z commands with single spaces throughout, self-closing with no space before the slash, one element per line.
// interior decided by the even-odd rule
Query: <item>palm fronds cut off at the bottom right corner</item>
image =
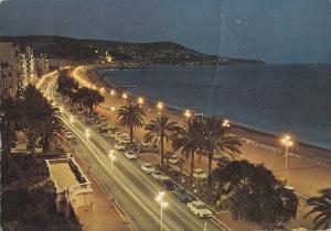
<path fill-rule="evenodd" d="M 322 229 L 325 230 L 331 228 L 331 188 L 320 190 L 320 194 L 322 194 L 320 197 L 311 197 L 307 200 L 307 204 L 314 208 L 305 218 L 311 213 L 319 212 L 312 221 L 314 223 L 313 230 L 320 227 L 323 227 Z"/>

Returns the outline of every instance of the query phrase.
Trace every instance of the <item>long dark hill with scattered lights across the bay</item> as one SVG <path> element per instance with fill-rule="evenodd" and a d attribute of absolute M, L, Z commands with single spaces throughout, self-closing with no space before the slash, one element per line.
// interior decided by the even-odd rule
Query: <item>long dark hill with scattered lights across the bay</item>
<path fill-rule="evenodd" d="M 51 58 L 72 61 L 95 61 L 107 52 L 117 61 L 158 64 L 257 63 L 257 61 L 206 55 L 173 42 L 125 43 L 47 35 L 0 36 L 0 42 L 10 42 L 21 48 L 30 45 L 34 48 L 35 55 L 47 54 Z"/>

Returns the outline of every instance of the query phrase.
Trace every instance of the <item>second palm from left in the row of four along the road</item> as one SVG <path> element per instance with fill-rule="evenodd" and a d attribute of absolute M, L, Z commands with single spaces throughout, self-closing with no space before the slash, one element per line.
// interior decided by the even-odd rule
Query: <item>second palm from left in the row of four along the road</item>
<path fill-rule="evenodd" d="M 178 123 L 169 121 L 169 117 L 160 116 L 148 123 L 145 129 L 148 131 L 145 135 L 147 142 L 159 143 L 161 164 L 163 164 L 164 140 L 169 142 L 173 133 L 179 130 Z"/>

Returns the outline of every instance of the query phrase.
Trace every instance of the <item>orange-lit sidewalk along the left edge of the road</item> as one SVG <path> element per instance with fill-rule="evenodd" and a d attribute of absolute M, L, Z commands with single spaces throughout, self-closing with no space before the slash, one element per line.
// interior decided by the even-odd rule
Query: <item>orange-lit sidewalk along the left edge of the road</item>
<path fill-rule="evenodd" d="M 66 150 L 68 144 L 64 145 Z M 75 209 L 77 220 L 84 231 L 131 231 L 129 222 L 119 213 L 115 205 L 108 199 L 105 191 L 98 185 L 87 167 L 75 153 L 72 153 L 75 161 L 79 164 L 83 173 L 87 176 L 93 187 L 93 207 L 79 207 Z"/>

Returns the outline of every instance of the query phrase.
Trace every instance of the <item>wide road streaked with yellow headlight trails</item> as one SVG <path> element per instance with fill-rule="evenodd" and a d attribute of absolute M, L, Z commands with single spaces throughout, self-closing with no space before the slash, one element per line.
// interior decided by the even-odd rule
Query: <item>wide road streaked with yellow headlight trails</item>
<path fill-rule="evenodd" d="M 47 82 L 46 92 L 50 96 L 54 97 L 55 85 L 55 78 Z M 61 105 L 56 99 L 54 101 Z M 161 185 L 146 175 L 138 162 L 126 158 L 121 152 L 115 152 L 116 160 L 111 174 L 108 157 L 109 151 L 114 148 L 111 140 L 77 119 L 72 122 L 70 119 L 72 114 L 65 108 L 62 114 L 63 122 L 73 131 L 78 141 L 78 148 L 83 151 L 79 152 L 81 157 L 92 168 L 106 193 L 115 199 L 132 228 L 141 231 L 160 230 L 160 206 L 156 196 Z M 89 138 L 85 134 L 87 128 Z M 227 230 L 213 220 L 205 221 L 197 218 L 171 191 L 166 191 L 164 200 L 169 206 L 163 209 L 163 230 Z"/>

